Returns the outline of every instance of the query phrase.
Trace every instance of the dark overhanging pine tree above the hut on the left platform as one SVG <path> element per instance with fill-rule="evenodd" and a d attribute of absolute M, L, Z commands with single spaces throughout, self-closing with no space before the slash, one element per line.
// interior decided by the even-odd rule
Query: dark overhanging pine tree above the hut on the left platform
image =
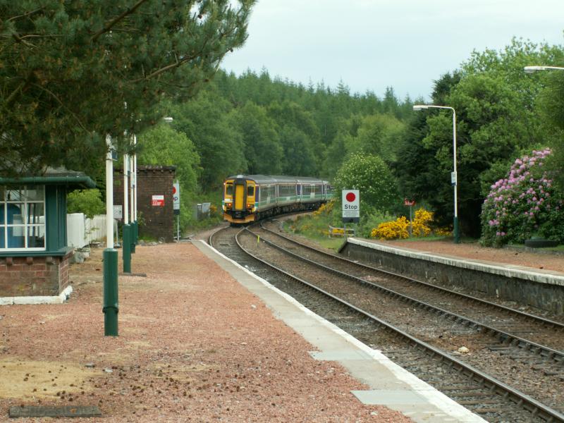
<path fill-rule="evenodd" d="M 0 175 L 97 166 L 106 134 L 125 144 L 213 77 L 254 3 L 0 0 Z"/>

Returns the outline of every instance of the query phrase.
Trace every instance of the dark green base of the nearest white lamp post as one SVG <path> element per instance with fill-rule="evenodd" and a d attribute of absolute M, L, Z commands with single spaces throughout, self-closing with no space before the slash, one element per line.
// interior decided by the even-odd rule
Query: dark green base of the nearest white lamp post
<path fill-rule="evenodd" d="M 104 336 L 118 336 L 118 250 L 106 248 L 104 257 Z"/>

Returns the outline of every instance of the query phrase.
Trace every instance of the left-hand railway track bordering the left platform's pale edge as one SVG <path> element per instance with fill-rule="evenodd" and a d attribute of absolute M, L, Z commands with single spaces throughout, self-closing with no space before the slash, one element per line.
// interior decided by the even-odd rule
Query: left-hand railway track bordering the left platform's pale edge
<path fill-rule="evenodd" d="M 438 346 L 430 345 L 428 342 L 417 339 L 413 333 L 408 333 L 408 331 L 402 328 L 396 328 L 386 323 L 386 321 L 393 321 L 393 319 L 397 319 L 397 317 L 394 317 L 393 314 L 388 314 L 386 319 L 376 316 L 376 312 L 380 312 L 380 310 L 374 310 L 374 307 L 371 309 L 366 302 L 358 301 L 359 297 L 366 298 L 367 293 L 361 290 L 357 290 L 356 293 L 347 292 L 348 288 L 343 285 L 350 286 L 350 283 L 343 284 L 341 281 L 336 286 L 333 285 L 333 287 L 331 287 L 329 283 L 329 286 L 325 286 L 327 289 L 321 288 L 326 282 L 320 283 L 319 268 L 312 272 L 313 274 L 317 274 L 317 278 L 312 278 L 311 274 L 307 277 L 316 281 L 315 286 L 305 281 L 305 278 L 290 276 L 290 274 L 285 273 L 279 266 L 277 267 L 276 273 L 266 270 L 264 264 L 259 264 L 256 259 L 252 259 L 245 254 L 240 250 L 240 246 L 235 247 L 233 241 L 234 233 L 233 228 L 230 228 L 230 231 L 225 231 L 221 235 L 214 235 L 214 237 L 210 239 L 210 243 L 229 257 L 238 262 L 243 262 L 243 265 L 247 266 L 247 268 L 250 268 L 252 271 L 258 270 L 257 273 L 262 273 L 260 276 L 266 278 L 275 286 L 278 286 L 278 288 L 285 290 L 290 295 L 293 295 L 307 307 L 326 317 L 326 319 L 338 324 L 338 326 L 349 331 L 353 336 L 359 338 L 364 343 L 371 345 L 373 348 L 382 350 L 388 357 L 398 362 L 398 364 L 402 365 L 410 372 L 417 374 L 421 379 L 436 386 L 436 388 L 439 388 L 460 404 L 479 413 L 489 421 L 530 422 L 534 421 L 534 419 L 549 422 L 564 421 L 564 416 L 561 414 L 560 410 L 551 408 L 555 407 L 555 400 L 543 398 L 543 402 L 549 404 L 544 405 L 540 401 L 534 400 L 532 396 L 528 396 L 515 388 L 511 388 L 510 384 L 504 381 L 498 381 L 496 378 L 488 376 L 486 372 L 472 366 L 472 364 L 462 361 L 462 357 L 453 357 L 451 353 L 446 353 Z M 238 242 L 240 245 L 247 244 L 247 247 L 249 247 L 249 245 L 255 245 L 256 250 L 256 236 L 256 234 L 240 234 Z M 247 240 L 245 241 L 244 238 L 247 238 Z M 266 243 L 262 243 L 262 245 L 259 246 L 259 250 L 264 252 L 271 249 L 271 247 L 265 247 L 264 244 Z M 252 250 L 252 247 L 249 247 L 249 249 Z M 290 266 L 293 267 L 293 270 L 304 266 L 298 264 L 298 257 L 293 259 L 286 257 L 282 259 L 281 262 L 288 264 L 288 262 L 292 260 L 296 261 Z M 307 264 L 307 266 L 311 265 L 311 263 Z M 330 273 L 331 278 L 335 278 L 334 271 Z M 274 274 L 276 274 L 276 276 L 274 276 Z M 338 278 L 342 280 L 343 276 L 338 276 Z M 362 284 L 365 285 L 366 281 L 363 281 Z M 304 290 L 304 287 L 306 287 L 307 290 Z M 315 292 L 315 294 L 313 294 L 313 292 Z M 319 295 L 323 296 L 320 297 Z M 374 296 L 374 293 L 371 295 Z M 343 297 L 346 299 L 343 300 Z M 379 307 L 376 308 L 382 308 L 380 306 L 381 303 Z M 394 308 L 398 309 L 398 305 L 397 303 L 390 304 L 387 308 L 388 310 Z M 399 307 L 399 309 L 402 308 L 406 308 L 405 304 L 403 304 L 403 307 Z M 440 314 L 435 314 L 435 317 L 439 316 Z M 441 320 L 445 321 L 445 319 L 442 318 Z M 418 321 L 420 325 L 422 320 L 416 317 L 416 321 Z M 437 321 L 439 321 L 439 319 L 437 319 Z M 457 319 L 449 319 L 448 322 L 449 324 L 446 326 L 444 326 L 444 324 L 441 326 L 445 333 L 450 332 L 457 333 L 457 336 L 466 336 L 467 333 L 477 332 L 474 324 L 461 325 L 460 321 L 457 322 Z M 431 322 L 431 324 L 433 324 L 433 322 Z M 405 326 L 405 322 L 403 326 Z M 432 334 L 427 333 L 427 338 L 432 338 L 431 335 Z M 403 341 L 399 341 L 400 339 Z M 482 341 L 482 343 L 484 343 L 484 341 Z M 482 345 L 482 348 L 487 346 L 488 343 L 490 343 L 490 341 L 487 341 L 486 345 Z M 505 347 L 517 348 L 510 343 L 504 345 L 504 348 Z M 496 348 L 492 348 L 489 352 L 492 355 L 503 356 L 503 353 L 496 350 Z M 537 366 L 541 366 L 542 362 L 550 362 L 552 366 L 558 366 L 559 361 L 553 360 L 553 358 L 547 355 L 537 355 L 537 357 L 541 357 L 541 359 L 539 359 L 541 362 L 537 363 Z M 508 360 L 501 361 L 506 362 Z M 541 368 L 543 367 L 539 367 L 539 369 Z M 537 369 L 537 372 L 539 369 Z M 552 376 L 555 375 L 553 374 Z M 558 408 L 558 399 L 556 399 L 556 408 Z"/>

